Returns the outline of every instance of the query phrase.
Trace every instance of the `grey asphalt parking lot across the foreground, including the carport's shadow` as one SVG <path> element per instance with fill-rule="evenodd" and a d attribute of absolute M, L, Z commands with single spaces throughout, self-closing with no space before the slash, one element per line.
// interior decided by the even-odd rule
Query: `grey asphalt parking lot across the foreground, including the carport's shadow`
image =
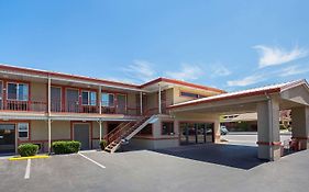
<path fill-rule="evenodd" d="M 0 160 L 0 191 L 299 191 L 309 189 L 309 150 L 276 162 L 257 148 L 200 145 L 164 150 L 80 154 Z"/>

